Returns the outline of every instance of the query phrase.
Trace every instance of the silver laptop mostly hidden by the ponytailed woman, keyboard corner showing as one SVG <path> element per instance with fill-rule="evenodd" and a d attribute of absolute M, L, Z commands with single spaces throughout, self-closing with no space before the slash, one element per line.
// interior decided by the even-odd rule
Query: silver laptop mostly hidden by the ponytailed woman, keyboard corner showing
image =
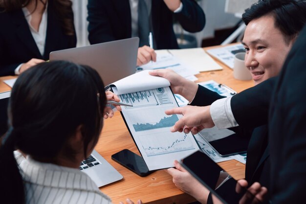
<path fill-rule="evenodd" d="M 0 136 L 8 129 L 7 107 L 11 91 L 0 93 Z M 119 181 L 123 176 L 112 167 L 97 151 L 93 150 L 90 157 L 82 161 L 79 169 L 86 173 L 98 187 Z"/>

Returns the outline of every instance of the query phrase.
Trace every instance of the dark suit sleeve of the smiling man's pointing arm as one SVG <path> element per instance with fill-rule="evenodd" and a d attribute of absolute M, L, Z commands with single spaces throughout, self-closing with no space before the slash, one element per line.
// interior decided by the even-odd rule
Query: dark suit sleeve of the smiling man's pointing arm
<path fill-rule="evenodd" d="M 267 124 L 271 94 L 277 77 L 270 78 L 231 99 L 233 115 L 240 126 L 256 128 Z"/>

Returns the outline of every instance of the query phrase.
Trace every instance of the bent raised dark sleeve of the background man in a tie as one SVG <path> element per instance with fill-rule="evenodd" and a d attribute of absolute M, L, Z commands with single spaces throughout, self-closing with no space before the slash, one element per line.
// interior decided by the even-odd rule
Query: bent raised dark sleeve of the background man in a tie
<path fill-rule="evenodd" d="M 188 32 L 199 32 L 205 26 L 205 14 L 195 0 L 181 0 L 183 9 L 175 13 L 175 18 Z"/>

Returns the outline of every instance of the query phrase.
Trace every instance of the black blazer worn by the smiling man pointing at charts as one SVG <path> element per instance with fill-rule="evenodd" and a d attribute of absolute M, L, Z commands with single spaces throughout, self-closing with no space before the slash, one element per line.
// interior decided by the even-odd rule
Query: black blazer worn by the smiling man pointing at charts
<path fill-rule="evenodd" d="M 274 81 L 273 81 L 274 82 Z M 262 82 L 263 83 L 263 82 Z M 266 83 L 270 84 L 270 83 Z M 274 83 L 270 86 L 270 90 L 273 89 Z M 258 85 L 257 85 L 258 86 Z M 257 87 L 255 86 L 255 87 Z M 254 88 L 255 88 L 254 87 Z M 269 188 L 269 173 L 270 173 L 270 160 L 269 160 L 269 145 L 267 139 L 267 125 L 249 125 L 249 123 L 254 124 L 253 120 L 257 120 L 254 117 L 251 117 L 252 120 L 243 121 L 241 123 L 240 117 L 236 117 L 237 110 L 233 109 L 236 103 L 247 104 L 250 103 L 250 97 L 248 95 L 254 95 L 255 97 L 261 96 L 257 94 L 256 90 L 253 91 L 242 91 L 240 94 L 237 94 L 232 97 L 231 107 L 236 121 L 240 125 L 239 127 L 232 128 L 236 133 L 240 133 L 241 136 L 250 137 L 248 149 L 247 149 L 247 159 L 246 159 L 246 169 L 245 169 L 245 179 L 249 183 L 254 183 L 255 181 L 261 182 L 264 186 Z M 256 94 L 254 94 L 256 93 Z M 195 99 L 191 105 L 197 106 L 207 106 L 211 105 L 215 100 L 223 98 L 218 93 L 205 89 L 204 87 L 199 86 Z M 269 97 L 265 95 L 265 99 L 269 100 Z M 262 100 L 264 101 L 264 100 Z M 253 100 L 256 103 L 256 99 Z M 236 113 L 236 114 L 235 114 Z M 243 112 L 245 113 L 245 112 Z M 251 113 L 249 113 L 251 114 Z M 233 186 L 234 187 L 234 186 Z M 220 192 L 219 192 L 220 193 Z"/>

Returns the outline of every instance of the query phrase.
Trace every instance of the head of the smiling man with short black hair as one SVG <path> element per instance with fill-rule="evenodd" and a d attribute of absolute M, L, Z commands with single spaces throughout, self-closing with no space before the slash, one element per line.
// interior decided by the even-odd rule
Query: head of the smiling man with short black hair
<path fill-rule="evenodd" d="M 305 23 L 305 3 L 305 0 L 267 0 L 245 10 L 244 63 L 255 85 L 281 71 Z"/>

